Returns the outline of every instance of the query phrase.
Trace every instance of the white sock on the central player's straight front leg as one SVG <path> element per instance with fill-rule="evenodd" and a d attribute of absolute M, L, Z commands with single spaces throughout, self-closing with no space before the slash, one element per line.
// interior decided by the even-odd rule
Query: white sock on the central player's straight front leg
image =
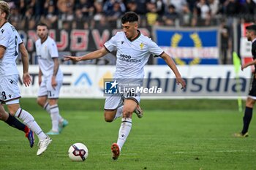
<path fill-rule="evenodd" d="M 119 128 L 118 140 L 117 144 L 119 149 L 124 145 L 124 142 L 127 140 L 127 136 L 129 135 L 129 131 L 132 128 L 132 119 L 131 118 L 122 118 L 121 119 L 121 126 Z"/>

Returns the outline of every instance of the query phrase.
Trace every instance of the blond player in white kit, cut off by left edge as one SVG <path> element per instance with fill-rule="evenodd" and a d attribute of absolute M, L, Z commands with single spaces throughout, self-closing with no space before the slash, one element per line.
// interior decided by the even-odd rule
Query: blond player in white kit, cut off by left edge
<path fill-rule="evenodd" d="M 21 53 L 23 63 L 23 83 L 29 86 L 31 77 L 29 75 L 29 54 L 20 39 L 15 28 L 7 22 L 10 14 L 10 7 L 6 1 L 0 1 L 0 118 L 6 121 L 8 116 L 20 118 L 31 131 L 39 138 L 37 155 L 48 147 L 51 139 L 39 127 L 34 117 L 24 109 L 20 108 L 20 90 L 18 88 L 18 69 L 16 59 Z M 7 104 L 10 115 L 7 114 L 2 104 Z M 34 144 L 34 142 L 33 142 Z M 31 147 L 33 147 L 31 143 Z"/>

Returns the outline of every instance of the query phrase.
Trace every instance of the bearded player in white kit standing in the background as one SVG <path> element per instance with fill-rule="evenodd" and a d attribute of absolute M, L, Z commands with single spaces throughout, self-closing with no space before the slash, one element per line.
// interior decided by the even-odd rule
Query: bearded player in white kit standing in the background
<path fill-rule="evenodd" d="M 39 63 L 39 91 L 37 104 L 44 108 L 51 117 L 52 128 L 48 135 L 58 135 L 67 126 L 67 120 L 59 114 L 58 98 L 63 74 L 59 68 L 59 53 L 56 42 L 48 36 L 45 23 L 37 25 L 36 51 Z"/>

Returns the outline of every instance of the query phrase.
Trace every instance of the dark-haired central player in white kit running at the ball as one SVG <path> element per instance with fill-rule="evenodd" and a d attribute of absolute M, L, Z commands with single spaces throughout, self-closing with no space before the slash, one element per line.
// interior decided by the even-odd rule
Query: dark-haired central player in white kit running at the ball
<path fill-rule="evenodd" d="M 105 42 L 104 47 L 92 53 L 75 57 L 64 56 L 64 60 L 83 61 L 94 58 L 101 58 L 107 53 L 117 50 L 116 53 L 116 72 L 114 79 L 143 79 L 144 66 L 148 61 L 148 57 L 159 55 L 162 57 L 173 73 L 176 75 L 176 82 L 181 83 L 182 88 L 185 88 L 186 83 L 181 78 L 176 64 L 158 45 L 144 36 L 138 30 L 138 15 L 135 12 L 127 12 L 121 18 L 123 31 L 118 32 L 108 42 Z M 127 96 L 126 96 L 127 95 Z M 118 132 L 118 140 L 111 146 L 112 158 L 116 160 L 120 155 L 121 148 L 129 135 L 132 128 L 132 113 L 138 114 L 141 117 L 141 110 L 138 107 L 140 103 L 140 94 L 130 95 L 113 95 L 107 96 L 105 100 L 104 116 L 105 121 L 112 122 L 116 117 L 122 116 L 121 127 Z M 125 98 L 124 98 L 125 96 Z M 123 101 L 124 99 L 124 101 Z M 140 112 L 138 112 L 140 111 Z"/>

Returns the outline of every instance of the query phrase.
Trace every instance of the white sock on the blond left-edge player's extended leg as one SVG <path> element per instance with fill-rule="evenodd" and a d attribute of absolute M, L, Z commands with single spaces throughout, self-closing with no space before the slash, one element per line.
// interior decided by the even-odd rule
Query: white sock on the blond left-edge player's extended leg
<path fill-rule="evenodd" d="M 34 120 L 34 117 L 29 112 L 26 112 L 26 110 L 19 108 L 15 113 L 15 116 L 20 118 L 20 120 L 22 120 L 23 123 L 31 129 L 31 131 L 37 134 L 39 140 L 43 140 L 47 137 Z"/>

